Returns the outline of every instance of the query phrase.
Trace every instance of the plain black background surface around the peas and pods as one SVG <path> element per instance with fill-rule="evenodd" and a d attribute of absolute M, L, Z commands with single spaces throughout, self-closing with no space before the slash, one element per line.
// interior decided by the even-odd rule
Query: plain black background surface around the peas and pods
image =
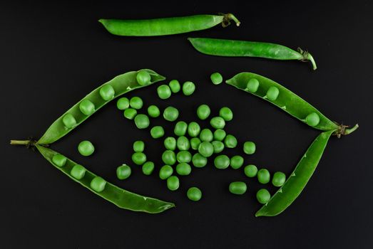
<path fill-rule="evenodd" d="M 370 1 L 1 4 L 1 248 L 372 248 L 372 7 Z M 112 36 L 97 21 L 228 11 L 240 18 L 240 28 L 217 26 L 153 38 Z M 313 72 L 310 64 L 297 61 L 203 55 L 190 46 L 189 36 L 300 46 L 314 55 L 319 68 Z M 305 191 L 273 218 L 255 218 L 260 208 L 255 192 L 261 186 L 242 169 L 218 171 L 210 163 L 183 177 L 175 192 L 157 174 L 144 176 L 138 166 L 132 167 L 130 179 L 116 179 L 116 166 L 131 162 L 133 141 L 145 141 L 145 153 L 158 168 L 163 147 L 150 138 L 149 129 L 140 131 L 125 120 L 115 102 L 52 148 L 118 186 L 173 201 L 177 208 L 158 215 L 122 210 L 73 183 L 40 154 L 9 145 L 9 139 L 40 137 L 101 83 L 140 68 L 168 80 L 192 80 L 197 90 L 193 97 L 178 94 L 163 101 L 155 84 L 129 97 L 143 97 L 146 106 L 174 105 L 185 121 L 197 120 L 195 108 L 202 103 L 215 115 L 220 107 L 231 107 L 235 118 L 226 130 L 239 142 L 257 143 L 257 153 L 245 157 L 245 163 L 272 173 L 290 174 L 319 132 L 252 95 L 212 85 L 210 73 L 219 71 L 225 79 L 242 71 L 265 75 L 332 120 L 359 122 L 360 128 L 330 140 Z M 172 133 L 161 118 L 152 122 Z M 96 145 L 92 157 L 78 154 L 83 139 Z M 241 153 L 231 149 L 228 154 Z M 230 181 L 238 180 L 249 186 L 243 196 L 228 192 Z M 198 203 L 185 197 L 190 186 L 203 190 Z"/>

